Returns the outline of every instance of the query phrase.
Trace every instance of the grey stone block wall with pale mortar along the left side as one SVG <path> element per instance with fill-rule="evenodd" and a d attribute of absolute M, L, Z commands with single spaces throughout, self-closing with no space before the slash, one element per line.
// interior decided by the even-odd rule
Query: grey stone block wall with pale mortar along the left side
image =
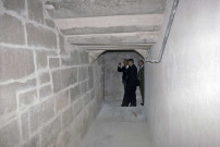
<path fill-rule="evenodd" d="M 75 147 L 103 99 L 103 59 L 89 64 L 41 0 L 0 0 L 0 147 Z"/>

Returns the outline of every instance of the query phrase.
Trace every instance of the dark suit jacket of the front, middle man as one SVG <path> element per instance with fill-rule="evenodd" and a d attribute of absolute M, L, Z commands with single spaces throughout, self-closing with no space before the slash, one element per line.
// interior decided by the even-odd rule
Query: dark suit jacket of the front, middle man
<path fill-rule="evenodd" d="M 137 68 L 134 64 L 127 69 L 126 84 L 130 86 L 137 85 Z"/>

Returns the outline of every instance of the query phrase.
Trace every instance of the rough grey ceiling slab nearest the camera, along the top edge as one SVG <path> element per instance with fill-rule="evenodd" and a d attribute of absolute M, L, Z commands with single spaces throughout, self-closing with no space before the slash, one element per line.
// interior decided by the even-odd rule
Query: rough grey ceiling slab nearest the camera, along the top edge
<path fill-rule="evenodd" d="M 106 15 L 152 14 L 162 13 L 166 5 L 163 0 L 49 1 L 50 2 L 47 2 L 47 4 L 51 4 L 54 9 L 48 10 L 48 12 L 53 17 L 94 17 Z"/>

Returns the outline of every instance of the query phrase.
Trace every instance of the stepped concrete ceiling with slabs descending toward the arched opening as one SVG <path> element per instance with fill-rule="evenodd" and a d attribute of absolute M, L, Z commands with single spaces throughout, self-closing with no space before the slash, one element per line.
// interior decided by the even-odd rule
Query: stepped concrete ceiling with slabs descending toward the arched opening
<path fill-rule="evenodd" d="M 107 50 L 147 56 L 158 40 L 166 0 L 48 0 L 48 14 L 73 46 L 93 59 Z"/>

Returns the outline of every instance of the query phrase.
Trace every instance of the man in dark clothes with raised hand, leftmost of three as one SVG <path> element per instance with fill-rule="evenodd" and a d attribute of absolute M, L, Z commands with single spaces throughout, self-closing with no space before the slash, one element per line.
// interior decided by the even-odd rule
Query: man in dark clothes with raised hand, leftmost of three
<path fill-rule="evenodd" d="M 124 61 L 123 61 L 123 66 L 121 65 L 121 62 L 119 63 L 119 65 L 118 65 L 118 72 L 122 72 L 123 74 L 122 74 L 122 83 L 123 83 L 123 85 L 124 85 L 124 97 L 123 97 L 123 100 L 122 100 L 122 107 L 124 107 L 124 101 L 126 101 L 125 100 L 125 88 L 126 88 L 126 71 L 127 71 L 127 69 L 129 69 L 129 60 L 127 59 L 124 59 Z"/>

